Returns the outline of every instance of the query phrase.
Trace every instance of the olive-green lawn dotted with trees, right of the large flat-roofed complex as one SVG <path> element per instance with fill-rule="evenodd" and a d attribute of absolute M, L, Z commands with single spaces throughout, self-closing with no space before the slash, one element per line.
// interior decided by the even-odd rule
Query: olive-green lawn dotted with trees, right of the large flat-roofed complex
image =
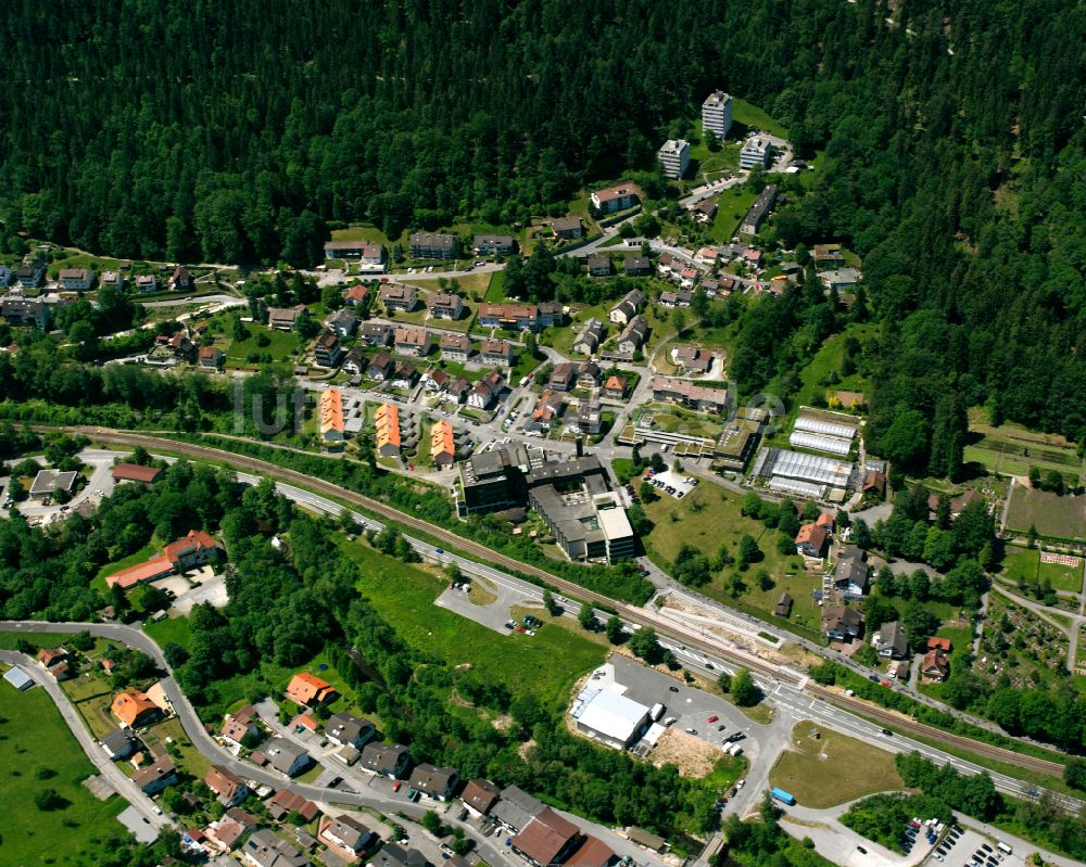
<path fill-rule="evenodd" d="M 679 548 L 693 545 L 710 559 L 724 545 L 733 557 L 738 540 L 744 534 L 753 536 L 761 548 L 765 559 L 742 573 L 743 587 L 738 597 L 733 597 L 727 588 L 727 577 L 734 566 L 725 566 L 712 576 L 709 584 L 698 588 L 714 599 L 749 611 L 755 616 L 787 628 L 813 633 L 816 640 L 820 634 L 821 609 L 811 598 L 811 590 L 821 587 L 821 578 L 803 571 L 797 557 L 785 557 L 776 550 L 776 531 L 767 530 L 763 524 L 744 518 L 740 511 L 738 497 L 711 483 L 703 482 L 683 499 L 675 500 L 662 496 L 658 501 L 645 503 L 645 513 L 655 526 L 644 539 L 649 557 L 657 565 L 670 570 Z M 755 576 L 765 569 L 772 578 L 769 589 L 761 589 Z M 792 616 L 787 621 L 772 615 L 773 607 L 783 591 L 791 594 L 794 602 Z"/>

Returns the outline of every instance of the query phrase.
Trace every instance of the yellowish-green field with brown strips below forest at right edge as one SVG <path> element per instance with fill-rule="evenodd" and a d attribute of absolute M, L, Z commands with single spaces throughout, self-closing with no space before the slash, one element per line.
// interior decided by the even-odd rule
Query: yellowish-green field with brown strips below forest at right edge
<path fill-rule="evenodd" d="M 1031 467 L 1037 467 L 1041 474 L 1056 470 L 1073 484 L 1084 479 L 1083 459 L 1074 444 L 1057 434 L 1035 433 L 1012 422 L 995 428 L 981 407 L 969 411 L 969 433 L 965 461 L 980 463 L 990 473 L 1025 476 Z"/>

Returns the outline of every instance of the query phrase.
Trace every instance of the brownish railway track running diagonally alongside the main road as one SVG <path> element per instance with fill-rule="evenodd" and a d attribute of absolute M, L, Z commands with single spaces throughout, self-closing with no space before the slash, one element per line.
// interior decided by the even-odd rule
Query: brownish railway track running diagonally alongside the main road
<path fill-rule="evenodd" d="M 56 429 L 41 426 L 40 430 L 54 431 Z M 451 547 L 458 548 L 466 553 L 479 558 L 482 562 L 500 566 L 514 574 L 520 573 L 522 575 L 529 575 L 533 578 L 546 582 L 553 587 L 561 590 L 564 594 L 568 594 L 577 599 L 582 599 L 603 608 L 614 609 L 618 611 L 619 615 L 624 620 L 631 623 L 640 624 L 641 626 L 652 627 L 658 634 L 673 640 L 681 641 L 687 647 L 696 648 L 704 653 L 710 653 L 718 658 L 727 659 L 734 664 L 743 665 L 752 672 L 759 673 L 766 677 L 775 680 L 788 681 L 792 686 L 803 689 L 813 698 L 830 702 L 842 710 L 857 713 L 884 725 L 894 726 L 898 730 L 906 734 L 917 735 L 919 737 L 932 739 L 936 742 L 958 747 L 976 755 L 1002 762 L 1007 765 L 1056 777 L 1060 777 L 1063 774 L 1063 765 L 1058 762 L 1031 755 L 1023 755 L 1022 753 L 1006 750 L 1001 747 L 994 747 L 992 744 L 984 743 L 983 741 L 972 740 L 962 735 L 955 735 L 923 723 L 918 723 L 908 716 L 904 716 L 902 714 L 893 711 L 887 711 L 879 705 L 871 704 L 849 696 L 844 696 L 818 684 L 807 681 L 806 678 L 803 678 L 795 672 L 782 670 L 780 666 L 766 662 L 753 653 L 707 641 L 694 629 L 682 627 L 679 624 L 654 614 L 652 611 L 636 605 L 631 605 L 626 602 L 619 602 L 602 594 L 595 592 L 594 590 L 582 587 L 571 581 L 554 575 L 553 573 L 540 569 L 539 566 L 515 560 L 512 557 L 488 548 L 484 545 L 480 545 L 477 541 L 472 541 L 471 539 L 467 539 L 456 533 L 453 533 L 452 531 L 427 523 L 426 521 L 407 514 L 406 512 L 394 509 L 380 500 L 372 499 L 364 494 L 356 494 L 353 490 L 348 490 L 346 488 L 334 485 L 331 482 L 326 482 L 323 479 L 305 475 L 296 470 L 289 470 L 258 458 L 251 458 L 247 455 L 237 455 L 232 451 L 213 448 L 211 446 L 201 446 L 193 443 L 185 443 L 175 439 L 150 436 L 147 434 L 116 431 L 105 428 L 70 426 L 63 430 L 70 433 L 84 434 L 99 441 L 115 443 L 118 445 L 142 446 L 148 450 L 157 449 L 160 451 L 171 451 L 198 460 L 203 459 L 228 463 L 236 469 L 247 470 L 258 475 L 267 475 L 276 481 L 287 482 L 299 487 L 307 488 L 316 494 L 324 494 L 326 496 L 350 502 L 372 512 L 380 518 L 394 521 L 397 524 L 411 530 L 416 530 L 433 538 L 441 539 L 442 541 L 447 543 Z"/>

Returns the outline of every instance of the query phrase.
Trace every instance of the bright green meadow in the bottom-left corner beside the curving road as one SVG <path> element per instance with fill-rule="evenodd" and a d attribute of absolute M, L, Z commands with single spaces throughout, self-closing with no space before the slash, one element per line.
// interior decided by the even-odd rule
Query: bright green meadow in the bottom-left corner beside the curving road
<path fill-rule="evenodd" d="M 0 863 L 74 864 L 112 849 L 126 833 L 115 821 L 125 802 L 99 801 L 80 785 L 94 767 L 49 694 L 0 684 Z M 54 789 L 66 805 L 38 809 L 34 798 L 45 789 Z"/>

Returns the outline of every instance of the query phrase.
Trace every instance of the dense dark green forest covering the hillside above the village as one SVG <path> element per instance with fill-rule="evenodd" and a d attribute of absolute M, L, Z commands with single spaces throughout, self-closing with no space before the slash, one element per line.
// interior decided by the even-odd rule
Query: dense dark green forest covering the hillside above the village
<path fill-rule="evenodd" d="M 820 153 L 774 231 L 863 257 L 875 445 L 946 448 L 985 401 L 1086 437 L 1073 0 L 23 0 L 0 46 L 8 231 L 169 260 L 313 264 L 329 224 L 564 213 L 723 87 Z M 786 356 L 741 387 L 787 384 Z"/>

